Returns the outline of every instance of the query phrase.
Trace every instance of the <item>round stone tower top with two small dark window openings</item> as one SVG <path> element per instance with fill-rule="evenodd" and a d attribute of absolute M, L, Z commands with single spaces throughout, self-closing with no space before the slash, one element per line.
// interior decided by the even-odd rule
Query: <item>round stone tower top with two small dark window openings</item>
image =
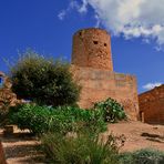
<path fill-rule="evenodd" d="M 73 35 L 72 64 L 113 71 L 110 34 L 96 28 L 78 31 Z"/>

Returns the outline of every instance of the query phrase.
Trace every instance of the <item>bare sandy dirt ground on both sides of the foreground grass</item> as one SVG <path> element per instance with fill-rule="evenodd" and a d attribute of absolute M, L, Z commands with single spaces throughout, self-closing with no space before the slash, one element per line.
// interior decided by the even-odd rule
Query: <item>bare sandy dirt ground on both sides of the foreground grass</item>
<path fill-rule="evenodd" d="M 106 137 L 111 132 L 119 136 L 124 134 L 126 141 L 122 152 L 135 151 L 144 147 L 153 147 L 164 151 L 164 125 L 150 125 L 141 122 L 122 122 L 109 124 L 109 131 L 103 134 Z M 6 152 L 8 164 L 42 164 L 43 155 L 39 148 L 39 142 L 24 133 L 14 133 L 11 137 L 4 137 L 0 130 L 0 137 Z"/>

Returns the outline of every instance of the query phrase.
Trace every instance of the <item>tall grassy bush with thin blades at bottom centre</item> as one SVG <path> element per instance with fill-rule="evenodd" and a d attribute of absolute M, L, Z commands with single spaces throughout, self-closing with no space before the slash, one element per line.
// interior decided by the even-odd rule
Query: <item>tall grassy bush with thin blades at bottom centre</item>
<path fill-rule="evenodd" d="M 43 151 L 49 163 L 57 164 L 117 164 L 117 146 L 110 135 L 104 143 L 99 136 L 91 137 L 89 133 L 63 136 L 61 134 L 44 134 L 41 139 Z"/>

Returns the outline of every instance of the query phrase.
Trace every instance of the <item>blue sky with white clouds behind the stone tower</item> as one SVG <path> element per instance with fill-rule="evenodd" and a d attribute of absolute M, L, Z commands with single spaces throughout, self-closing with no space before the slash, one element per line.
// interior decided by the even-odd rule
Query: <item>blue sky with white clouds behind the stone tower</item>
<path fill-rule="evenodd" d="M 153 0 L 153 8 L 119 1 L 0 0 L 0 71 L 9 71 L 3 59 L 12 62 L 28 48 L 70 60 L 73 33 L 99 27 L 112 35 L 115 72 L 136 75 L 139 92 L 164 83 L 164 10 Z"/>

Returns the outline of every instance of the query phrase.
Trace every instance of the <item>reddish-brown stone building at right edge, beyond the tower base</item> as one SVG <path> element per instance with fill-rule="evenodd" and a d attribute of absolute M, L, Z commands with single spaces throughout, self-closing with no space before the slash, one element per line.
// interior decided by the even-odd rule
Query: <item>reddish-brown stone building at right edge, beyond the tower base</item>
<path fill-rule="evenodd" d="M 141 121 L 164 124 L 164 84 L 140 94 L 139 105 Z"/>

